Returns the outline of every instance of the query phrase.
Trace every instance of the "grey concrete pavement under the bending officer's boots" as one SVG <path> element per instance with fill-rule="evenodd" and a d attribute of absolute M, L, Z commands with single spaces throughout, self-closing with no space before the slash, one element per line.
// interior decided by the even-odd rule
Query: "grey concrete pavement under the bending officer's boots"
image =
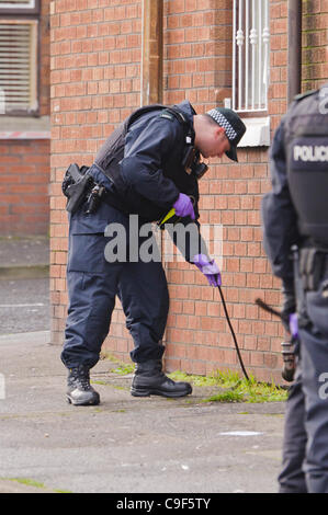
<path fill-rule="evenodd" d="M 65 400 L 60 347 L 38 331 L 0 336 L 0 492 L 276 492 L 284 403 L 133 398 L 108 359 L 99 407 Z"/>

